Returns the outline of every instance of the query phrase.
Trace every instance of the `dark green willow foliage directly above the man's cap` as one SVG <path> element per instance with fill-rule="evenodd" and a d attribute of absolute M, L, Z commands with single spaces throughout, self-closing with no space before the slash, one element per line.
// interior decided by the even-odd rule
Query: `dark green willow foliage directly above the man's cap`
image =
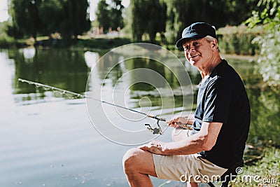
<path fill-rule="evenodd" d="M 239 25 L 249 17 L 258 0 L 165 0 L 166 36 L 169 43 L 181 38 L 181 32 L 193 22 L 208 22 L 216 29 Z"/>

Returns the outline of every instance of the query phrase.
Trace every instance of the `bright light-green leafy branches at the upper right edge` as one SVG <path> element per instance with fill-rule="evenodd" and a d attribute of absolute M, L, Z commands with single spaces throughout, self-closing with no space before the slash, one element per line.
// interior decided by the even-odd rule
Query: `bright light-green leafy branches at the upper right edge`
<path fill-rule="evenodd" d="M 258 69 L 269 85 L 280 85 L 280 2 L 260 0 L 258 8 L 262 11 L 253 11 L 245 22 L 251 29 L 262 25 L 265 30 L 253 40 L 260 46 Z"/>

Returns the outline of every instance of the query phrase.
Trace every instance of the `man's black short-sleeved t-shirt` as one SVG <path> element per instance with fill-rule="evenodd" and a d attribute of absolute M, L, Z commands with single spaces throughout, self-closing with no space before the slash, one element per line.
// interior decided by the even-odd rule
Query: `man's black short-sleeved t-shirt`
<path fill-rule="evenodd" d="M 193 134 L 200 131 L 202 121 L 223 123 L 215 146 L 200 154 L 224 168 L 241 162 L 250 118 L 244 84 L 235 69 L 223 60 L 200 85 L 197 95 Z"/>

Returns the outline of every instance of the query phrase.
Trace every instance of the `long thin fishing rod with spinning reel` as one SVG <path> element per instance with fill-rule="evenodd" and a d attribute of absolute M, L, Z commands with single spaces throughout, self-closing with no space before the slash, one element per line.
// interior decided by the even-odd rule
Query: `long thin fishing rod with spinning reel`
<path fill-rule="evenodd" d="M 42 84 L 42 83 L 36 83 L 34 81 L 28 81 L 28 80 L 25 80 L 25 79 L 22 79 L 22 78 L 18 78 L 18 81 L 20 81 L 22 83 L 28 83 L 30 85 L 36 85 L 37 87 L 48 88 L 48 89 L 53 90 L 53 91 L 62 92 L 62 95 L 67 93 L 67 94 L 75 95 L 77 98 L 81 97 L 81 98 L 86 98 L 86 99 L 92 99 L 92 100 L 97 101 L 97 102 L 102 102 L 104 104 L 109 104 L 111 106 L 116 106 L 120 109 L 126 109 L 126 110 L 129 110 L 129 111 L 133 111 L 135 113 L 140 113 L 144 116 L 147 116 L 148 118 L 153 118 L 153 119 L 157 120 L 158 127 L 153 128 L 153 127 L 151 127 L 150 124 L 148 124 L 148 123 L 145 124 L 147 126 L 147 129 L 150 130 L 151 132 L 153 132 L 153 134 L 162 134 L 162 128 L 160 127 L 159 123 L 160 123 L 160 121 L 167 122 L 167 119 L 165 119 L 165 118 L 160 118 L 158 116 L 153 116 L 153 115 L 148 114 L 148 113 L 144 113 L 144 112 L 141 112 L 141 111 L 136 111 L 134 109 L 127 108 L 125 106 L 120 106 L 118 104 L 113 104 L 113 103 L 106 102 L 106 101 L 103 101 L 103 100 L 100 100 L 100 99 L 96 99 L 94 97 L 89 97 L 89 96 L 86 96 L 86 95 L 78 94 L 76 92 L 71 92 L 69 90 L 63 90 L 61 88 L 56 88 L 54 86 L 45 85 L 45 84 Z M 186 125 L 186 124 L 179 124 L 179 126 L 191 128 L 191 125 Z"/>

